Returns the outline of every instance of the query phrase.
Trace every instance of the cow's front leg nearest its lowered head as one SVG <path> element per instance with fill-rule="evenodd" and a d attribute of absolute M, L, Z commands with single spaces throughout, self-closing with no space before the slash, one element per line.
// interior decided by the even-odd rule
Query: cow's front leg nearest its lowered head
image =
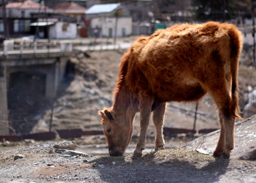
<path fill-rule="evenodd" d="M 141 97 L 139 103 L 140 110 L 140 134 L 136 145 L 136 149 L 133 152 L 132 159 L 139 158 L 142 156 L 142 150 L 145 149 L 146 143 L 146 133 L 149 124 L 151 106 L 153 104 L 153 99 L 149 97 Z"/>

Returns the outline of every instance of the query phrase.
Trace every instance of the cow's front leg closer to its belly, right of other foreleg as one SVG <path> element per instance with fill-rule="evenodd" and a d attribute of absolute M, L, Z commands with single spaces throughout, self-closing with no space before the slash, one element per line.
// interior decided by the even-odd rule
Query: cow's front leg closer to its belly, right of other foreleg
<path fill-rule="evenodd" d="M 153 122 L 156 127 L 155 150 L 164 149 L 164 113 L 166 102 L 157 102 L 153 113 Z"/>

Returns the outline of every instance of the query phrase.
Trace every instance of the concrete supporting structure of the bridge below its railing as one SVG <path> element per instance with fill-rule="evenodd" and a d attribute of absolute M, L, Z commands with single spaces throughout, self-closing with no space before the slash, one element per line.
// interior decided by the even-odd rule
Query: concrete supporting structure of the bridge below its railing
<path fill-rule="evenodd" d="M 68 59 L 68 57 L 46 57 L 0 60 L 0 135 L 9 135 L 7 91 L 10 75 L 17 72 L 45 74 L 45 97 L 52 101 L 56 97 L 58 84 L 65 74 Z"/>

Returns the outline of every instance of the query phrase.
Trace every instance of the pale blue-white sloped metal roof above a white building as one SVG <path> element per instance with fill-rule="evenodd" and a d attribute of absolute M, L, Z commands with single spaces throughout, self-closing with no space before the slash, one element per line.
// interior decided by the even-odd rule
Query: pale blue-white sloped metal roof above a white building
<path fill-rule="evenodd" d="M 111 11 L 115 10 L 118 6 L 120 6 L 119 3 L 93 5 L 86 11 L 86 14 L 110 13 Z"/>

